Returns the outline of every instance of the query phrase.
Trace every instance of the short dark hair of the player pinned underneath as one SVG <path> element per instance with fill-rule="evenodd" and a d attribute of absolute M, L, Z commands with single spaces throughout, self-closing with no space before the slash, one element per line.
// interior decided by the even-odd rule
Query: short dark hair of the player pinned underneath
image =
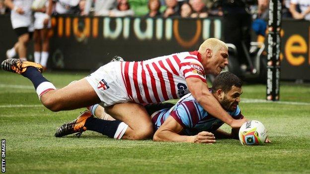
<path fill-rule="evenodd" d="M 241 88 L 241 79 L 231 72 L 222 72 L 213 81 L 212 93 L 215 93 L 218 89 L 222 89 L 227 93 L 233 86 Z"/>

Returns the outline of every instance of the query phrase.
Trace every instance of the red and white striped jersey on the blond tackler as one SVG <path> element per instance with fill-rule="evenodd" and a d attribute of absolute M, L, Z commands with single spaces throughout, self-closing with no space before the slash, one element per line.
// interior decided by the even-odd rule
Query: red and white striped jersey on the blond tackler
<path fill-rule="evenodd" d="M 186 78 L 206 82 L 201 55 L 183 52 L 144 61 L 124 61 L 122 77 L 133 102 L 159 103 L 178 99 L 189 93 Z"/>

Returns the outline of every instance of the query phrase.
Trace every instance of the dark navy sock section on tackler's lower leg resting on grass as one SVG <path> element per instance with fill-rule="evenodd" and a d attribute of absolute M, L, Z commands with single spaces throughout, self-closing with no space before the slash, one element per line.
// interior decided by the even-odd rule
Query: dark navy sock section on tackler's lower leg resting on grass
<path fill-rule="evenodd" d="M 89 117 L 86 119 L 85 127 L 87 130 L 92 130 L 95 132 L 102 133 L 103 135 L 107 135 L 110 138 L 114 138 L 115 132 L 118 128 L 118 125 L 122 121 L 120 120 L 104 120 L 95 117 Z"/>

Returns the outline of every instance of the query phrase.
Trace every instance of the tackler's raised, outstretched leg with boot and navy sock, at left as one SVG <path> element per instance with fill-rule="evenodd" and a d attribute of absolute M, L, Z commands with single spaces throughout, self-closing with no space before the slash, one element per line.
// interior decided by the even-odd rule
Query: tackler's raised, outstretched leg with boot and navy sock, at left
<path fill-rule="evenodd" d="M 51 111 L 73 110 L 100 102 L 86 79 L 57 90 L 41 74 L 43 68 L 40 64 L 21 59 L 6 59 L 1 63 L 1 67 L 30 79 L 42 104 Z"/>

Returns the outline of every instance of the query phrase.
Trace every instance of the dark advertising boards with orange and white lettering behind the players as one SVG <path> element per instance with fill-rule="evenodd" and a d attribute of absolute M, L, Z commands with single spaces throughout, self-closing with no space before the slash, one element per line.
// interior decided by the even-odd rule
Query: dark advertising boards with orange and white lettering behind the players
<path fill-rule="evenodd" d="M 223 39 L 221 18 L 52 18 L 49 67 L 94 70 L 115 56 L 144 60 L 196 50 L 210 37 Z M 281 37 L 281 79 L 310 80 L 310 22 L 284 19 Z M 17 38 L 7 15 L 0 15 L 0 55 Z M 267 42 L 265 42 L 267 43 Z M 30 43 L 28 58 L 33 59 Z"/>

